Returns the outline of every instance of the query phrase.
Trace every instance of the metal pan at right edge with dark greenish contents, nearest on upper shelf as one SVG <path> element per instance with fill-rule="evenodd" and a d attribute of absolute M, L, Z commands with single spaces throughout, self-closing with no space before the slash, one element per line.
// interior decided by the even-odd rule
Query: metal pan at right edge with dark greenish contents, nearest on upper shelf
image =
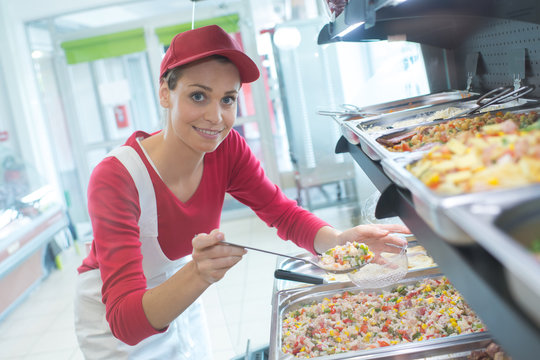
<path fill-rule="evenodd" d="M 520 192 L 525 200 L 511 206 L 461 206 L 447 213 L 503 264 L 512 297 L 540 327 L 540 260 L 530 251 L 540 239 L 540 185 Z"/>

